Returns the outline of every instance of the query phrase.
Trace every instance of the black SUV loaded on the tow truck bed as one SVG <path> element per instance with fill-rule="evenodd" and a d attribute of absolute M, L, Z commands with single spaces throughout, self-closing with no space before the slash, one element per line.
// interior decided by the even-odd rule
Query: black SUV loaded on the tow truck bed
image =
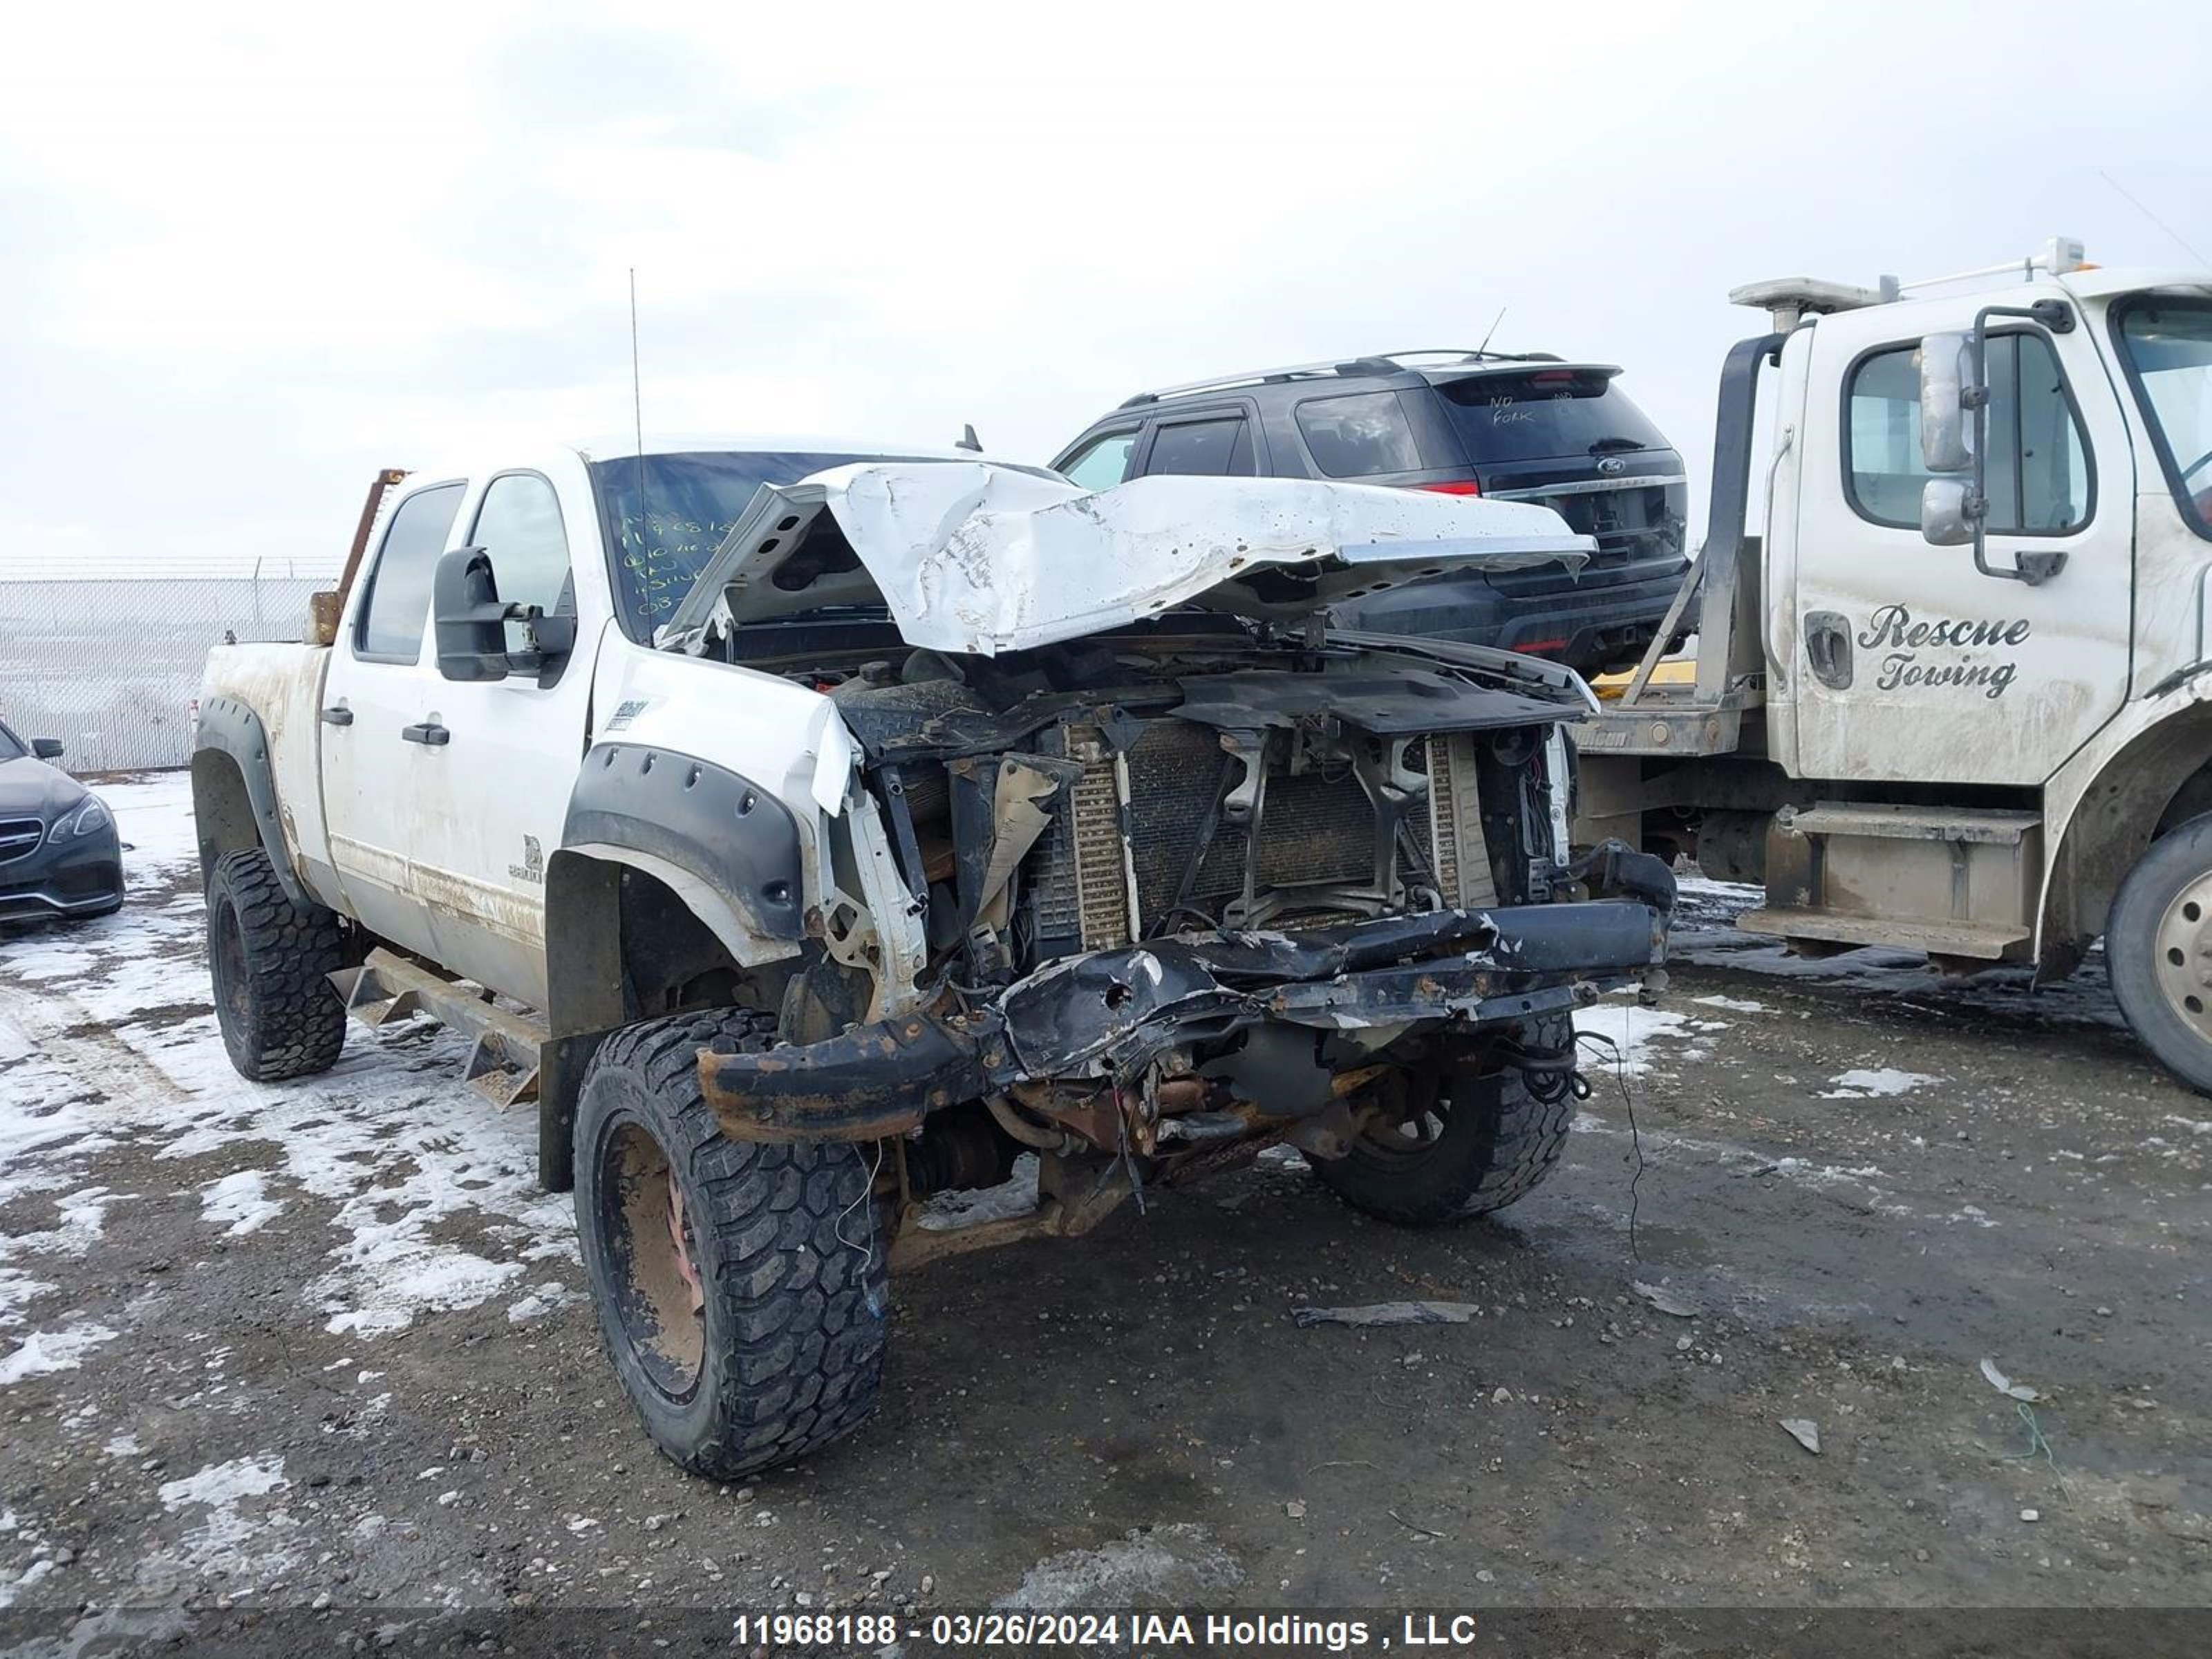
<path fill-rule="evenodd" d="M 1502 352 L 1389 352 L 1139 392 L 1053 467 L 1086 489 L 1150 473 L 1336 478 L 1542 502 L 1597 538 L 1557 566 L 1440 575 L 1338 608 L 1347 628 L 1630 666 L 1681 586 L 1681 456 L 1617 367 Z"/>

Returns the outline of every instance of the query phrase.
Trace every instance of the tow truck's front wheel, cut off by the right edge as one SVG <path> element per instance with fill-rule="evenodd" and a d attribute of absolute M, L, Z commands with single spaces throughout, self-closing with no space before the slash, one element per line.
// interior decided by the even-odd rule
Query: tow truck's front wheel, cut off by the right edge
<path fill-rule="evenodd" d="M 2104 958 L 2141 1044 L 2212 1095 L 2212 816 L 2159 836 L 2128 872 Z"/>

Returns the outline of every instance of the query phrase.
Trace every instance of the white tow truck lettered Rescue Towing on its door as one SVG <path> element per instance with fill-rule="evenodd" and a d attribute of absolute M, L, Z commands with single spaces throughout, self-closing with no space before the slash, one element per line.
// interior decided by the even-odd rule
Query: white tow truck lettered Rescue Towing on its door
<path fill-rule="evenodd" d="M 1655 648 L 1577 728 L 1582 836 L 1763 880 L 1743 927 L 1801 951 L 2057 975 L 2104 933 L 2212 1088 L 2212 272 L 2062 239 L 1730 299 L 1774 330 L 1659 630 L 1701 606 L 1694 679 Z"/>

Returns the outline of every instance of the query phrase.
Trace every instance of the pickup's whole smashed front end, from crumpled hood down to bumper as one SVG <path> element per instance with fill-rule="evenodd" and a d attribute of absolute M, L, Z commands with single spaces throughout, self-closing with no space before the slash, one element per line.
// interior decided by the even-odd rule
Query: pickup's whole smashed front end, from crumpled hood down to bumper
<path fill-rule="evenodd" d="M 956 529 L 880 568 L 865 520 L 825 511 L 834 489 L 757 502 L 759 522 L 732 533 L 719 597 L 697 599 L 672 641 L 821 690 L 856 770 L 810 951 L 757 991 L 774 1033 L 699 1055 L 728 1135 L 880 1144 L 883 1194 L 907 1221 L 931 1192 L 998 1183 L 1029 1150 L 1037 1210 L 958 1248 L 1079 1232 L 1128 1192 L 1274 1141 L 1347 1157 L 1418 1117 L 1407 1079 L 1524 1073 L 1564 1088 L 1573 1009 L 1663 978 L 1668 869 L 1617 845 L 1568 858 L 1564 723 L 1588 708 L 1582 684 L 1526 657 L 1329 637 L 1310 619 L 1347 584 L 1458 557 L 1438 549 L 1469 546 L 1469 524 L 1493 535 L 1493 560 L 1542 535 L 1502 509 L 1413 522 L 1433 507 L 1402 493 L 1203 482 L 1237 484 L 1210 522 L 1241 511 L 1250 535 L 1199 549 L 1164 531 L 1157 553 L 1203 553 L 1214 586 L 1133 573 L 1051 604 L 1037 586 L 1009 597 L 1015 575 L 1044 568 L 1020 560 L 1073 533 L 1053 513 L 1086 535 L 1126 520 L 1135 507 L 1106 502 L 1115 491 L 1091 507 L 1051 495 L 1020 533 L 1011 509 L 933 504 L 931 522 Z M 889 498 L 927 518 L 920 495 Z M 1259 507 L 1294 526 L 1267 557 Z M 1389 562 L 1292 546 L 1316 526 L 1398 540 Z M 1066 546 L 1093 544 L 1141 546 Z M 1009 591 L 960 588 L 953 648 L 920 644 L 918 619 L 947 557 L 1000 571 Z M 816 584 L 838 617 L 805 608 Z M 1234 615 L 1144 615 L 1146 593 Z M 869 595 L 889 615 L 845 619 Z M 1104 628 L 1068 637 L 1099 615 Z"/>

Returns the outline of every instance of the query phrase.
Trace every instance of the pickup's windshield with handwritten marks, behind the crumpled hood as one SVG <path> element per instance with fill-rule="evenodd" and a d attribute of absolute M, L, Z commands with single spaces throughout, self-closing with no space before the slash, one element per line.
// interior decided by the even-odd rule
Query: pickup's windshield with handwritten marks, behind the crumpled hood
<path fill-rule="evenodd" d="M 761 484 L 794 484 L 825 467 L 885 456 L 803 449 L 721 449 L 591 462 L 615 564 L 622 630 L 650 639 L 690 593 L 701 566 Z"/>

